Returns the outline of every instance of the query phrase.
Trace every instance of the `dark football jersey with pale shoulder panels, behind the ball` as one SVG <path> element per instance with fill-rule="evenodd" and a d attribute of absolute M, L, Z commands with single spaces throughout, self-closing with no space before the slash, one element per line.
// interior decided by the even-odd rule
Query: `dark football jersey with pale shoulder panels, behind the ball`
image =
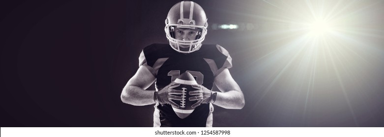
<path fill-rule="evenodd" d="M 144 65 L 155 76 L 158 91 L 186 71 L 194 76 L 198 84 L 212 89 L 215 76 L 223 69 L 231 68 L 231 61 L 228 51 L 219 45 L 203 45 L 195 52 L 184 54 L 169 44 L 152 44 L 143 49 L 139 58 L 140 66 Z M 154 126 L 160 124 L 162 127 L 206 127 L 213 111 L 211 104 L 202 104 L 188 117 L 181 119 L 171 105 L 156 104 L 155 108 Z"/>

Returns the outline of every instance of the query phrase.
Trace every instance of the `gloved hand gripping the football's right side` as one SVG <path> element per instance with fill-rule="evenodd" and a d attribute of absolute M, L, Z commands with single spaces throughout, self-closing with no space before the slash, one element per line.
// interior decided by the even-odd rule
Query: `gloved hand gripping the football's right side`
<path fill-rule="evenodd" d="M 189 95 L 194 95 L 189 97 L 189 101 L 197 100 L 197 102 L 192 105 L 192 108 L 196 108 L 201 104 L 213 103 L 216 100 L 217 93 L 208 90 L 203 85 L 192 85 L 192 88 L 196 89 L 196 91 L 189 92 Z"/>

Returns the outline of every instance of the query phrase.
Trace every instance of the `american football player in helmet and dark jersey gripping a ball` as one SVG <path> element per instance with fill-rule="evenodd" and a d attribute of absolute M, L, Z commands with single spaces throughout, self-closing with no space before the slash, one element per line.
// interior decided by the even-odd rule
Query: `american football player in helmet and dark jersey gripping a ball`
<path fill-rule="evenodd" d="M 139 69 L 121 92 L 124 103 L 144 106 L 155 104 L 154 127 L 211 127 L 213 105 L 226 109 L 242 109 L 244 95 L 228 68 L 232 58 L 219 45 L 203 45 L 207 35 L 207 16 L 193 1 L 175 4 L 165 20 L 169 44 L 152 44 L 143 49 Z M 179 107 L 179 84 L 175 79 L 188 72 L 196 79 L 189 101 L 195 110 L 179 118 L 172 107 Z M 156 91 L 146 90 L 155 82 Z M 211 91 L 213 84 L 220 91 Z"/>

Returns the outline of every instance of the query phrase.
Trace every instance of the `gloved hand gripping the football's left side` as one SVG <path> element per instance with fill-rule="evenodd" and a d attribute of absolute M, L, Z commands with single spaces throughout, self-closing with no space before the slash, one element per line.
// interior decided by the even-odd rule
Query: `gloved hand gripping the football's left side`
<path fill-rule="evenodd" d="M 160 91 L 155 91 L 154 93 L 155 102 L 159 102 L 160 104 L 171 104 L 172 106 L 178 108 L 179 105 L 177 105 L 174 101 L 172 101 L 172 100 L 182 99 L 182 97 L 178 94 L 182 94 L 183 92 L 180 90 L 174 90 L 174 88 L 178 86 L 180 86 L 180 84 L 172 82 L 171 84 L 165 86 Z"/>

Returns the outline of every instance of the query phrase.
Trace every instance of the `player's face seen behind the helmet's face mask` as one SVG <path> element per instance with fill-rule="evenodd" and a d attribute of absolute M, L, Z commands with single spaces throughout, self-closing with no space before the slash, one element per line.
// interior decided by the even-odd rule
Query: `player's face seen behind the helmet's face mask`
<path fill-rule="evenodd" d="M 193 41 L 196 39 L 198 30 L 191 28 L 178 28 L 175 29 L 175 39 L 181 41 Z M 189 48 L 189 45 L 180 45 L 182 48 Z"/>

